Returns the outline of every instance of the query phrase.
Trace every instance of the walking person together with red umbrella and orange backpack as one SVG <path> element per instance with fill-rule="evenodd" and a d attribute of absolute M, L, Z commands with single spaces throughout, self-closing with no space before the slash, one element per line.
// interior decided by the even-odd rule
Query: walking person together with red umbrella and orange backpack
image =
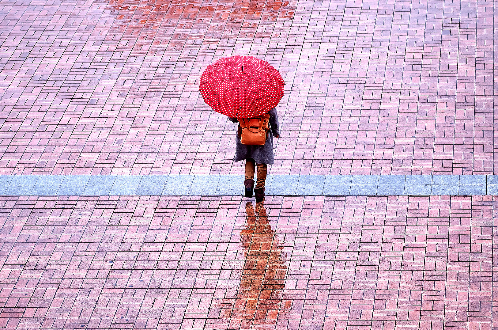
<path fill-rule="evenodd" d="M 235 161 L 246 160 L 246 197 L 264 198 L 268 164 L 274 164 L 273 137 L 280 135 L 275 107 L 284 95 L 285 82 L 270 63 L 250 55 L 220 58 L 208 65 L 199 79 L 204 102 L 214 111 L 239 122 Z M 254 171 L 257 181 L 254 187 Z"/>

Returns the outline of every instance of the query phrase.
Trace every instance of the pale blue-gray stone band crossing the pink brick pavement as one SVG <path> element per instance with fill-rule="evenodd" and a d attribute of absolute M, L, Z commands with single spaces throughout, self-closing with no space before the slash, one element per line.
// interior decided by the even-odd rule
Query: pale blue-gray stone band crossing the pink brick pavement
<path fill-rule="evenodd" d="M 244 175 L 0 175 L 1 195 L 239 195 Z M 498 195 L 498 175 L 268 175 L 268 195 Z"/>

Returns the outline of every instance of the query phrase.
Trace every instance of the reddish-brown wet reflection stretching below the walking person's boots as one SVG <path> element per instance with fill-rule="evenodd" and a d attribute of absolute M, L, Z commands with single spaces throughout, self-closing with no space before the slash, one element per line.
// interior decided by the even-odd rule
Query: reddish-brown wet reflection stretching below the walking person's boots
<path fill-rule="evenodd" d="M 230 322 L 240 324 L 240 329 L 276 325 L 288 269 L 280 260 L 282 242 L 271 229 L 262 203 L 254 209 L 252 202 L 247 202 L 246 212 L 246 229 L 241 230 L 246 262 Z"/>

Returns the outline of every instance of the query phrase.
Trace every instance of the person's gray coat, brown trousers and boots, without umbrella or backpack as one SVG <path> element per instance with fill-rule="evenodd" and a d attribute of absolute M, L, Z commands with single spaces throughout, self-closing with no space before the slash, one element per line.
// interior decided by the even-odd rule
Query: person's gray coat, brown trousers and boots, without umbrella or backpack
<path fill-rule="evenodd" d="M 257 181 L 256 187 L 254 188 L 256 202 L 260 202 L 264 198 L 267 164 L 275 164 L 273 155 L 273 137 L 278 139 L 280 136 L 280 125 L 278 123 L 277 111 L 273 108 L 268 113 L 270 114 L 270 130 L 269 134 L 266 136 L 266 142 L 263 146 L 243 145 L 239 133 L 236 138 L 237 152 L 235 154 L 235 161 L 239 162 L 246 160 L 246 180 L 244 181 L 244 185 L 246 186 L 245 196 L 249 198 L 252 197 L 252 189 L 254 188 L 254 171 L 257 165 Z M 237 118 L 229 119 L 233 123 L 239 122 Z M 238 132 L 240 132 L 240 130 L 238 130 Z"/>

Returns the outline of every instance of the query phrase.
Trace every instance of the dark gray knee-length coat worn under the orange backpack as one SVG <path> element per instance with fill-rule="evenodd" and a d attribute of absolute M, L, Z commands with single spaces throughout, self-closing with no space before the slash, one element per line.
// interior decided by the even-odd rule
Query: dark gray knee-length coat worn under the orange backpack
<path fill-rule="evenodd" d="M 256 161 L 256 164 L 275 164 L 273 156 L 273 137 L 280 135 L 280 125 L 278 124 L 278 116 L 275 108 L 271 109 L 270 114 L 270 134 L 266 136 L 264 146 L 247 146 L 243 145 L 241 138 L 237 134 L 235 139 L 237 152 L 235 153 L 235 161 L 239 162 L 248 158 Z M 238 123 L 237 118 L 229 118 L 231 122 Z"/>

